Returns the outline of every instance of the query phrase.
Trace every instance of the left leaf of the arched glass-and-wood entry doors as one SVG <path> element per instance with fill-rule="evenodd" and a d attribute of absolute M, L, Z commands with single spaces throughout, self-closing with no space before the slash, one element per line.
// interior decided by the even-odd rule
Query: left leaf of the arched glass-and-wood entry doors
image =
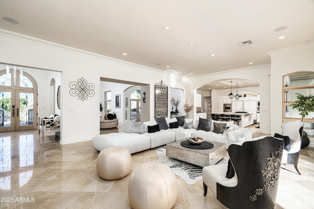
<path fill-rule="evenodd" d="M 0 131 L 14 131 L 14 98 L 10 90 L 0 91 Z M 13 106 L 12 106 L 13 105 Z"/>

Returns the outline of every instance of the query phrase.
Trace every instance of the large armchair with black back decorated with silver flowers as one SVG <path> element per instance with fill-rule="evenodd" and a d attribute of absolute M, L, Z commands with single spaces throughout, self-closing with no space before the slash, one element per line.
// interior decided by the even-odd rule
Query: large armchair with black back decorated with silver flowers
<path fill-rule="evenodd" d="M 203 168 L 204 196 L 209 187 L 227 208 L 274 208 L 283 147 L 283 139 L 271 136 L 231 144 L 231 163 Z"/>

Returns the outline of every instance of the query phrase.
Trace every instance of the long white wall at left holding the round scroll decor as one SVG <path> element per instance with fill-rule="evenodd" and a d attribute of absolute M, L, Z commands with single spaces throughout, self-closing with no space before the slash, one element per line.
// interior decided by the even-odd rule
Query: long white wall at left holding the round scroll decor
<path fill-rule="evenodd" d="M 62 72 L 61 144 L 91 140 L 99 134 L 100 78 L 113 78 L 150 84 L 149 92 L 162 80 L 169 87 L 186 88 L 180 76 L 153 70 L 121 60 L 84 52 L 25 35 L 0 30 L 0 62 Z M 40 74 L 40 73 L 39 73 Z M 95 85 L 95 95 L 85 101 L 69 94 L 69 83 L 84 78 Z M 50 83 L 50 79 L 49 82 Z M 48 89 L 49 90 L 49 89 Z M 148 98 L 149 97 L 149 98 Z M 146 95 L 154 101 L 154 94 Z M 154 103 L 147 118 L 154 118 Z M 170 107 L 169 107 L 170 117 Z"/>

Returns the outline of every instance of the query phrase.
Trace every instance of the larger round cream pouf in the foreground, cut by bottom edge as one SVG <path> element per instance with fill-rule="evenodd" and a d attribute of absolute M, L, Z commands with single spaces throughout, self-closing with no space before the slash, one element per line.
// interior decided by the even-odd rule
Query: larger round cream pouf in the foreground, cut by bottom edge
<path fill-rule="evenodd" d="M 171 209 L 178 196 L 176 175 L 162 162 L 146 162 L 133 169 L 129 200 L 133 209 Z"/>

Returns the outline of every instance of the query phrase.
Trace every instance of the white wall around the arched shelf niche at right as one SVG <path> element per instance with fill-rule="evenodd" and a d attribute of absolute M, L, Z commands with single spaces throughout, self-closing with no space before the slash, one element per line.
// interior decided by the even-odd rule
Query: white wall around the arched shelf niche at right
<path fill-rule="evenodd" d="M 272 135 L 281 133 L 283 76 L 298 72 L 314 72 L 314 44 L 270 52 L 271 55 L 271 121 Z M 262 101 L 262 98 L 261 98 Z M 311 140 L 311 146 L 314 141 Z"/>

